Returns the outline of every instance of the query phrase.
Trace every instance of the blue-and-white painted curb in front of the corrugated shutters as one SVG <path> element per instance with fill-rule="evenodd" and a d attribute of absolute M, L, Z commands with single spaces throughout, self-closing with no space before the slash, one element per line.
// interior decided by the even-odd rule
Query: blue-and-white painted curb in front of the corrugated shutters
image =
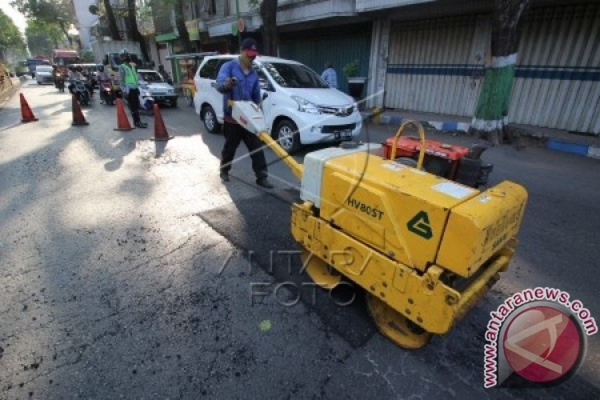
<path fill-rule="evenodd" d="M 362 112 L 364 118 L 370 118 L 372 112 Z M 471 118 L 438 113 L 426 113 L 410 110 L 386 110 L 374 124 L 400 125 L 406 119 L 414 119 L 425 127 L 448 133 L 468 133 Z M 553 151 L 567 152 L 584 157 L 600 158 L 600 137 L 569 133 L 566 130 L 533 127 L 531 125 L 509 124 L 508 129 L 526 141 L 541 143 Z"/>

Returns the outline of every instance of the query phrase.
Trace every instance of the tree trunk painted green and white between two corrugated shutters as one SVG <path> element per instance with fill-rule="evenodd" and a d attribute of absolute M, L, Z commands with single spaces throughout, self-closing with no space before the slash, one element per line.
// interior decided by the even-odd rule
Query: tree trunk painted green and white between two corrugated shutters
<path fill-rule="evenodd" d="M 494 144 L 505 141 L 520 22 L 530 0 L 494 0 L 491 65 L 486 66 L 472 130 Z"/>

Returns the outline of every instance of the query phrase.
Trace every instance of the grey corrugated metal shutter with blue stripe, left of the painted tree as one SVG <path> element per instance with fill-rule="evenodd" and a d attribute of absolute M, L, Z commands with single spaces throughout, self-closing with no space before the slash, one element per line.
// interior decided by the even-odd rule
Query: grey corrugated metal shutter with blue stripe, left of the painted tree
<path fill-rule="evenodd" d="M 461 16 L 392 25 L 385 106 L 472 116 L 489 41 L 488 18 Z"/>

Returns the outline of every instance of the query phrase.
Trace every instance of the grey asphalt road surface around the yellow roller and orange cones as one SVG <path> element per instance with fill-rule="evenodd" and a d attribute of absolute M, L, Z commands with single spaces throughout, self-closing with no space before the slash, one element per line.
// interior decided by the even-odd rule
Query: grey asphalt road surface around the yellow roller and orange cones
<path fill-rule="evenodd" d="M 68 95 L 22 92 L 40 121 L 19 123 L 18 97 L 0 109 L 0 399 L 600 397 L 598 336 L 557 387 L 486 390 L 482 373 L 488 313 L 517 290 L 568 290 L 600 315 L 600 161 L 490 149 L 493 182 L 529 190 L 517 255 L 451 333 L 404 351 L 367 328 L 360 302 L 283 306 L 288 288 L 251 298 L 251 284 L 277 285 L 265 253 L 289 240 L 296 185 L 274 154 L 274 193 L 253 185 L 247 159 L 223 185 L 223 137 L 183 104 L 163 110 L 175 139 L 161 143 L 152 124 L 113 131 L 97 95 L 90 125 L 71 127 Z M 259 211 L 240 216 L 248 204 Z"/>

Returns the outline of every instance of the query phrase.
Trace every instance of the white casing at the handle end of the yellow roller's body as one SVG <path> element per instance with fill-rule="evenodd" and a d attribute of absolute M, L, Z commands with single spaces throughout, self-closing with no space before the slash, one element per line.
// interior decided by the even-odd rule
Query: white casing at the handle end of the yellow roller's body
<path fill-rule="evenodd" d="M 310 201 L 315 207 L 321 207 L 321 185 L 323 182 L 323 167 L 328 160 L 358 152 L 369 152 L 380 155 L 382 145 L 364 143 L 356 148 L 326 148 L 313 151 L 304 156 L 304 172 L 302 173 L 302 191 L 300 198 Z"/>

